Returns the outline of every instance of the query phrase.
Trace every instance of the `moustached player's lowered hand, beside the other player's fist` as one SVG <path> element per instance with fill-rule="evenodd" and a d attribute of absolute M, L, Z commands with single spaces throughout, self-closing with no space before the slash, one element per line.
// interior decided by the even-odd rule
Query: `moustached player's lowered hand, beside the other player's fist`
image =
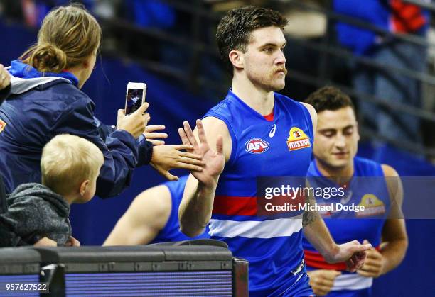
<path fill-rule="evenodd" d="M 366 251 L 370 250 L 372 245 L 361 245 L 358 240 L 343 243 L 343 245 L 337 245 L 338 250 L 328 260 L 330 263 L 345 262 L 346 269 L 350 272 L 355 272 L 360 269 L 365 261 Z"/>

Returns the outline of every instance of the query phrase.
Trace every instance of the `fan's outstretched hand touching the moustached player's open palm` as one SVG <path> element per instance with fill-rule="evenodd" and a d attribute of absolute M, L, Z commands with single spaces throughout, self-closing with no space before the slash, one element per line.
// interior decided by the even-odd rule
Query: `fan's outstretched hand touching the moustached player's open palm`
<path fill-rule="evenodd" d="M 151 164 L 154 169 L 169 181 L 177 181 L 178 176 L 172 175 L 169 170 L 174 168 L 200 171 L 204 164 L 201 156 L 182 150 L 192 150 L 192 145 L 156 145 L 153 147 Z"/>

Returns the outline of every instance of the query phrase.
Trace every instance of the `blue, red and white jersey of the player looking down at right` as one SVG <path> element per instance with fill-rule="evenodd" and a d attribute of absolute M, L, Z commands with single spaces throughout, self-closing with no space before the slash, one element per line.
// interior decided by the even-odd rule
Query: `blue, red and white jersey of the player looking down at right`
<path fill-rule="evenodd" d="M 352 240 L 368 240 L 373 247 L 380 245 L 382 227 L 390 210 L 390 194 L 385 180 L 381 164 L 370 159 L 360 157 L 354 158 L 354 174 L 348 185 L 345 196 L 340 198 L 340 203 L 365 206 L 365 211 L 353 212 L 343 211 L 342 213 L 320 213 L 325 220 L 326 226 L 335 242 L 342 244 Z M 335 186 L 328 179 L 310 179 L 311 176 L 322 176 L 316 162 L 311 162 L 308 170 L 308 179 L 311 186 Z M 378 176 L 370 178 L 369 176 Z M 358 179 L 359 178 L 359 179 Z M 329 201 L 328 201 L 329 200 Z M 331 199 L 316 197 L 317 203 L 331 203 Z M 336 203 L 338 201 L 332 201 Z M 343 215 L 345 213 L 345 216 Z M 321 254 L 303 238 L 305 261 L 308 270 L 313 269 L 335 269 L 342 272 L 335 278 L 332 291 L 338 290 L 360 290 L 372 286 L 372 278 L 360 276 L 356 273 L 345 271 L 344 263 L 328 264 Z"/>

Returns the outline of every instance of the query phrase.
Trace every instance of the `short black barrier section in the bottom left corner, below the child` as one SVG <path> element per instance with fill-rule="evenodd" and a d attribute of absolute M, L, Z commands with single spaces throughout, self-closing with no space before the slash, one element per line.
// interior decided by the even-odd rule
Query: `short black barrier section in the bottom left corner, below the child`
<path fill-rule="evenodd" d="M 39 296 L 41 256 L 26 248 L 0 249 L 0 296 Z"/>

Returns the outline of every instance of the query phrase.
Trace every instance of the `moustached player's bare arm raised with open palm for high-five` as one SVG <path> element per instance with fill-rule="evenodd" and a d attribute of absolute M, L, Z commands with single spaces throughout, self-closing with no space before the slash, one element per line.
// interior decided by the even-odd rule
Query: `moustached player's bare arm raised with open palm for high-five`
<path fill-rule="evenodd" d="M 190 171 L 178 208 L 181 232 L 189 237 L 204 232 L 211 218 L 219 176 L 230 159 L 231 137 L 227 125 L 218 118 L 208 117 L 196 122 L 192 132 L 188 122 L 178 133 L 184 145 L 193 145 L 193 153 L 203 157 L 203 170 Z"/>

